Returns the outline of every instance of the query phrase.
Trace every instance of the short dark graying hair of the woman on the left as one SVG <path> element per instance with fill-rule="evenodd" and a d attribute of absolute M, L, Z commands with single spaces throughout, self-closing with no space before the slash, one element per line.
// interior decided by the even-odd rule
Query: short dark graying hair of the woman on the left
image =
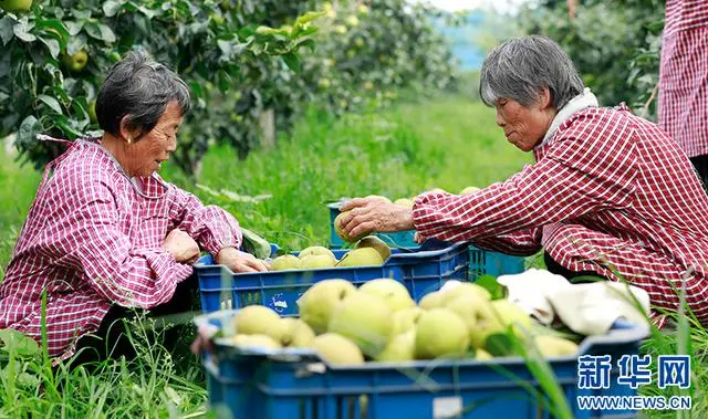
<path fill-rule="evenodd" d="M 140 128 L 142 136 L 155 128 L 173 101 L 183 115 L 189 112 L 185 82 L 146 52 L 129 52 L 108 70 L 96 98 L 96 119 L 101 129 L 119 135 L 121 121 L 127 115 L 129 127 Z"/>

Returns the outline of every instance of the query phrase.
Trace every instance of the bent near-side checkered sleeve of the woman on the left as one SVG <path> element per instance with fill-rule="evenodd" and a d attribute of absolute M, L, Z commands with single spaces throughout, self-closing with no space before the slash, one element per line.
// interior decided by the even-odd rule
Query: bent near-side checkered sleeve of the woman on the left
<path fill-rule="evenodd" d="M 58 263 L 83 272 L 94 291 L 119 305 L 150 308 L 168 302 L 191 266 L 162 249 L 135 249 L 105 184 L 80 185 L 67 193 L 83 203 L 54 232 L 53 242 L 65 254 Z"/>

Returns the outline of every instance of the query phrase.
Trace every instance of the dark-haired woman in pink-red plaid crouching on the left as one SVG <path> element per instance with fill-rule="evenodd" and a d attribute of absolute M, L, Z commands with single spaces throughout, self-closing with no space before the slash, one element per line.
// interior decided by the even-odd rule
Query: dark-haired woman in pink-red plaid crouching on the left
<path fill-rule="evenodd" d="M 189 105 L 185 83 L 144 53 L 110 70 L 96 101 L 103 137 L 66 143 L 44 172 L 0 284 L 0 329 L 40 342 L 46 292 L 49 354 L 59 362 L 77 346 L 105 347 L 84 335 L 106 334 L 126 308 L 187 311 L 195 284 L 185 280 L 200 249 L 235 272 L 267 270 L 238 250 L 231 214 L 156 174 Z"/>

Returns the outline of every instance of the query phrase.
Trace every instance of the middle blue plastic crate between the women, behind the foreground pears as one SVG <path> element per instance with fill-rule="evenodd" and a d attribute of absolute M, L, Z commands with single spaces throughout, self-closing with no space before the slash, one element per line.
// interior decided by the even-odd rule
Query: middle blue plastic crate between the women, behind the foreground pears
<path fill-rule="evenodd" d="M 334 250 L 333 253 L 341 259 L 346 251 Z M 391 258 L 377 266 L 240 274 L 215 265 L 211 255 L 206 255 L 195 264 L 195 274 L 199 280 L 201 310 L 205 313 L 260 304 L 275 310 L 280 315 L 291 316 L 298 313 L 298 298 L 312 284 L 330 279 L 343 279 L 358 285 L 378 277 L 391 277 L 405 284 L 410 295 L 419 301 L 447 280 L 468 280 L 469 252 L 466 243 L 429 240 L 415 251 L 392 249 Z"/>

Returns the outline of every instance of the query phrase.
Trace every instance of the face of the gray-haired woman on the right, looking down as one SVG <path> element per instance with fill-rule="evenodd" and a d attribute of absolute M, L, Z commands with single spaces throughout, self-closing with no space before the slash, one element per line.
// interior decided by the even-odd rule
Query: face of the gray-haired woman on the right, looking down
<path fill-rule="evenodd" d="M 507 140 L 524 151 L 531 151 L 543 139 L 555 114 L 544 97 L 531 106 L 500 97 L 496 107 L 497 125 L 504 130 Z"/>

